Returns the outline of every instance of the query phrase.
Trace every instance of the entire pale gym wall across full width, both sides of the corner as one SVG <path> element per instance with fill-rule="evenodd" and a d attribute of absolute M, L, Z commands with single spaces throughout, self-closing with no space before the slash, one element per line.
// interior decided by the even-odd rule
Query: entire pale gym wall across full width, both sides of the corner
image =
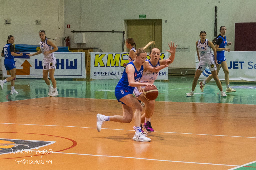
<path fill-rule="evenodd" d="M 54 43 L 58 46 L 70 36 L 73 48 L 99 47 L 103 52 L 121 52 L 122 33 L 86 33 L 86 44 L 74 44 L 71 31 L 125 31 L 127 38 L 125 20 L 145 14 L 146 19 L 162 19 L 162 51 L 168 49 L 170 41 L 190 47 L 190 52 L 176 53 L 171 67 L 195 68 L 195 42 L 200 31 L 206 31 L 209 40 L 214 39 L 215 6 L 218 29 L 227 27 L 226 36 L 228 42 L 233 42 L 229 46 L 233 51 L 234 44 L 239 43 L 234 42 L 235 23 L 256 22 L 255 5 L 255 0 L 0 0 L 0 47 L 8 35 L 14 35 L 17 44 L 36 45 L 40 41 L 38 32 L 43 29 L 47 37 L 57 38 Z M 4 25 L 4 19 L 11 19 L 12 24 Z M 36 19 L 42 24 L 35 25 Z"/>

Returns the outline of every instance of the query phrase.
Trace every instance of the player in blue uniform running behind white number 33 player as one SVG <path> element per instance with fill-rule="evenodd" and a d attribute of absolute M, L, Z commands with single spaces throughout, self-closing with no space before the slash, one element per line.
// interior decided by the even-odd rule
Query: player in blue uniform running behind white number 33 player
<path fill-rule="evenodd" d="M 218 64 L 217 65 L 217 72 L 219 74 L 220 71 L 220 67 L 222 67 L 224 74 L 225 74 L 225 82 L 226 82 L 226 93 L 232 93 L 232 92 L 236 92 L 236 90 L 230 88 L 229 85 L 229 71 L 228 71 L 228 66 L 227 66 L 227 62 L 226 62 L 226 57 L 224 55 L 225 51 L 230 52 L 229 48 L 226 48 L 227 45 L 232 45 L 232 42 L 227 43 L 227 37 L 226 37 L 226 32 L 227 29 L 225 26 L 221 26 L 220 27 L 220 34 L 212 40 L 212 43 L 215 45 L 216 51 L 217 51 L 217 61 Z M 212 79 L 212 74 L 210 74 L 205 81 L 200 81 L 200 90 L 202 92 L 204 92 L 204 87 L 205 84 L 208 83 L 210 80 Z"/>

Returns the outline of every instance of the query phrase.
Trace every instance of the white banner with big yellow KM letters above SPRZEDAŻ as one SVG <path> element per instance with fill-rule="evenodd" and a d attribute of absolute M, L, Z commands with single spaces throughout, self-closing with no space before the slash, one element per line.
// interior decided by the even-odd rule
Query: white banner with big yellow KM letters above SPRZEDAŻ
<path fill-rule="evenodd" d="M 128 63 L 129 53 L 90 53 L 91 73 L 90 79 L 121 79 L 124 63 Z M 168 53 L 161 53 L 160 59 L 167 59 Z M 149 53 L 147 55 L 149 59 Z M 158 73 L 157 80 L 168 80 L 168 67 Z"/>

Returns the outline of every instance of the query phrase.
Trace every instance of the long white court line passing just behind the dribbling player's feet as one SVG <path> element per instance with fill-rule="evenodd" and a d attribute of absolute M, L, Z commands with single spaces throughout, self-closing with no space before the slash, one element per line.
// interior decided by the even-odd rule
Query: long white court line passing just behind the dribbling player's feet
<path fill-rule="evenodd" d="M 61 126 L 61 125 L 36 125 L 36 124 L 20 124 L 20 123 L 0 123 L 0 124 L 31 125 L 31 126 L 57 126 L 57 127 L 75 127 L 75 128 L 89 128 L 89 129 L 97 129 L 97 128 L 92 128 L 92 127 Z M 127 129 L 109 129 L 109 128 L 101 128 L 101 129 L 134 131 L 134 130 L 127 130 Z M 246 137 L 246 136 L 209 135 L 209 134 L 198 134 L 198 133 L 159 132 L 159 131 L 155 131 L 155 132 L 158 132 L 158 133 L 176 133 L 176 134 L 186 134 L 186 135 L 206 135 L 206 136 L 224 136 L 224 137 L 236 137 L 236 138 L 255 138 L 255 139 L 256 139 L 256 137 Z"/>

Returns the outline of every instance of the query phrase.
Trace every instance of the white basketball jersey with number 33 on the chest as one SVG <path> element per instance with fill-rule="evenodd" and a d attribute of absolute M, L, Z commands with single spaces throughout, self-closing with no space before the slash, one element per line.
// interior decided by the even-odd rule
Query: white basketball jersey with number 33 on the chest
<path fill-rule="evenodd" d="M 201 43 L 201 40 L 198 40 L 197 48 L 201 62 L 206 63 L 209 60 L 214 59 L 214 56 L 211 53 L 211 47 L 209 47 L 207 39 L 204 43 Z"/>

